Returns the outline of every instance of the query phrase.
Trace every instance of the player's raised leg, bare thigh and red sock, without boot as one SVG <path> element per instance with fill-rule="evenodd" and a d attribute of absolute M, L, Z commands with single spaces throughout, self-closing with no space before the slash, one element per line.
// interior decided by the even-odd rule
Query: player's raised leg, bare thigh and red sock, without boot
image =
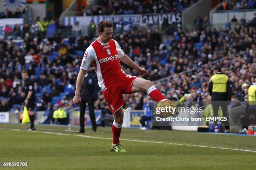
<path fill-rule="evenodd" d="M 162 93 L 159 90 L 157 90 L 157 88 L 153 85 L 151 81 L 145 80 L 140 77 L 136 78 L 133 81 L 131 91 L 132 93 L 145 91 L 154 101 L 161 101 L 164 99 Z"/>

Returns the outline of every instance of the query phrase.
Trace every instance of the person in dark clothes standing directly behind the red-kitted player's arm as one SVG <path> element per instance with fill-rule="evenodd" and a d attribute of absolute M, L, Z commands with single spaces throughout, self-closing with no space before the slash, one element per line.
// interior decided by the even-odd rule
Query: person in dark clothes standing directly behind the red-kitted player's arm
<path fill-rule="evenodd" d="M 74 87 L 76 87 L 76 83 Z M 76 131 L 76 133 L 84 133 L 84 114 L 85 114 L 85 108 L 86 103 L 89 107 L 89 115 L 92 122 L 92 131 L 96 132 L 97 125 L 95 120 L 95 113 L 94 113 L 94 101 L 98 99 L 98 84 L 94 77 L 94 75 L 91 72 L 88 72 L 86 75 L 84 75 L 84 82 L 82 84 L 81 88 L 81 104 L 80 107 L 80 130 Z"/>

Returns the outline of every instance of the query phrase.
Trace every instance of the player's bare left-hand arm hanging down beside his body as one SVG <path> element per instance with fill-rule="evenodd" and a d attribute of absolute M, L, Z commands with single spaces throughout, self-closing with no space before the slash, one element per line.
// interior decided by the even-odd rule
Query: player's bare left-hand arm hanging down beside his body
<path fill-rule="evenodd" d="M 81 97 L 80 97 L 80 91 L 81 87 L 84 81 L 84 75 L 87 73 L 87 70 L 80 69 L 78 75 L 77 75 L 77 85 L 76 85 L 76 91 L 75 96 L 73 98 L 73 102 L 79 105 L 81 103 Z"/>

